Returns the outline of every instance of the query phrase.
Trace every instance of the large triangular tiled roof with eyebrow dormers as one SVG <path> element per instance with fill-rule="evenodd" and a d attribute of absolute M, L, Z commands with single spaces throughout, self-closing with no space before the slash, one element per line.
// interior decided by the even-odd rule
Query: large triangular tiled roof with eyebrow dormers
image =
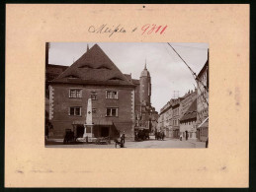
<path fill-rule="evenodd" d="M 98 44 L 84 53 L 52 83 L 133 86 Z"/>

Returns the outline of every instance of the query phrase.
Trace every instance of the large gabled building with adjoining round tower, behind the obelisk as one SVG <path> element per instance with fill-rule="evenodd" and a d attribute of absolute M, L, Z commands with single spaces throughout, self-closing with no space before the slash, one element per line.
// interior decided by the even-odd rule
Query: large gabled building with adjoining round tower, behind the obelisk
<path fill-rule="evenodd" d="M 139 80 L 123 74 L 102 48 L 87 46 L 71 66 L 48 64 L 45 59 L 45 134 L 63 138 L 71 129 L 76 137 L 133 137 L 136 129 L 155 130 L 158 113 L 151 105 L 151 77 L 144 69 Z M 87 109 L 88 99 L 92 108 Z M 92 129 L 85 129 L 92 114 Z"/>

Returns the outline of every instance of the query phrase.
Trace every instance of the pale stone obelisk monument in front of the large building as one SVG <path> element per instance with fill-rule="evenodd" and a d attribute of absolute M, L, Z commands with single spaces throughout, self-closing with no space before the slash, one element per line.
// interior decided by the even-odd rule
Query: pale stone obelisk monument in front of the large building
<path fill-rule="evenodd" d="M 86 133 L 87 132 L 87 133 Z M 93 116 L 92 116 L 92 98 L 88 98 L 86 121 L 84 124 L 84 135 L 83 137 L 94 137 L 93 135 Z"/>

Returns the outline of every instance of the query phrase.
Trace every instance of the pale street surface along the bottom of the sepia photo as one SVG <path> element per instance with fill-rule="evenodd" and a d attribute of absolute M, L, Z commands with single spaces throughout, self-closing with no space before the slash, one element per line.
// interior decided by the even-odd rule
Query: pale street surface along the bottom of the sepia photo
<path fill-rule="evenodd" d="M 96 144 L 74 144 L 74 145 L 62 145 L 62 142 L 58 142 L 53 145 L 46 145 L 46 148 L 115 148 L 115 142 L 112 141 L 110 145 L 96 145 Z M 118 146 L 118 148 L 120 148 Z M 166 148 L 206 148 L 205 142 L 196 141 L 180 141 L 178 139 L 165 138 L 161 140 L 146 140 L 141 142 L 126 141 L 125 148 L 128 149 L 166 149 Z"/>

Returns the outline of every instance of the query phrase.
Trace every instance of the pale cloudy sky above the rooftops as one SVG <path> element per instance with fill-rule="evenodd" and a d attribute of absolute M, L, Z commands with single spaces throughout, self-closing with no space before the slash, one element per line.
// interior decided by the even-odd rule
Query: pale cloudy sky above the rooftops
<path fill-rule="evenodd" d="M 70 66 L 96 42 L 50 42 L 49 64 Z M 97 42 L 109 58 L 132 79 L 139 79 L 146 68 L 151 76 L 151 103 L 160 109 L 174 96 L 184 96 L 197 86 L 189 68 L 166 42 Z M 197 74 L 208 59 L 208 43 L 172 43 Z"/>

